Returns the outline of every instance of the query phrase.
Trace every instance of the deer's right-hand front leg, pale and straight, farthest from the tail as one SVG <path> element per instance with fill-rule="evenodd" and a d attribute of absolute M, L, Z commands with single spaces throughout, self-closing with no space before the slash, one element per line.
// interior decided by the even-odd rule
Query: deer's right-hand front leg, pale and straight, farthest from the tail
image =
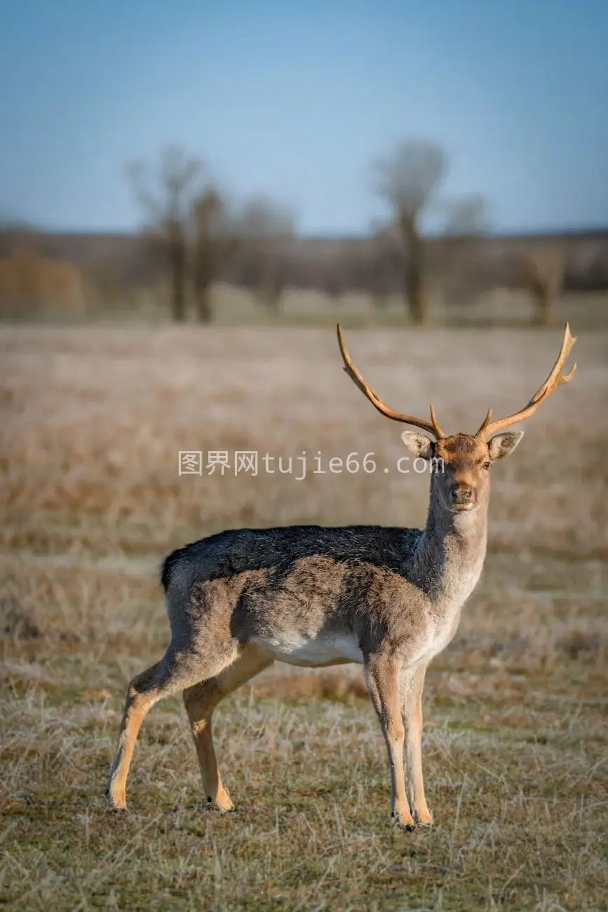
<path fill-rule="evenodd" d="M 401 710 L 406 729 L 407 796 L 417 824 L 431 825 L 422 777 L 422 691 L 426 666 L 401 673 Z"/>

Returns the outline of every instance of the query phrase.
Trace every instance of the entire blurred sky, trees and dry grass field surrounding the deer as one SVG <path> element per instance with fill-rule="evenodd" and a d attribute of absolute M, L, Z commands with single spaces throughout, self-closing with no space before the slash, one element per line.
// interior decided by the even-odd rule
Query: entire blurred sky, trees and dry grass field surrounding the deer
<path fill-rule="evenodd" d="M 607 35 L 603 0 L 5 0 L 1 901 L 605 907 Z M 484 574 L 428 670 L 445 825 L 388 833 L 354 667 L 277 667 L 222 704 L 238 825 L 193 811 L 177 698 L 110 818 L 127 682 L 168 641 L 165 554 L 426 522 L 428 476 L 397 472 L 335 322 L 391 407 L 472 432 L 529 401 L 566 319 L 576 377 L 492 469 Z"/>

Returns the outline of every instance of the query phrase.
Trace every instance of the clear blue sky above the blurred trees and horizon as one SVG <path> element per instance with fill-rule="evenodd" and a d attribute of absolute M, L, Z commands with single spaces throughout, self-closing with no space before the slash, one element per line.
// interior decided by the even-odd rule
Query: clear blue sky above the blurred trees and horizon
<path fill-rule="evenodd" d="M 369 162 L 438 140 L 500 230 L 608 223 L 606 0 L 4 0 L 0 212 L 123 229 L 168 143 L 304 233 L 365 233 Z"/>

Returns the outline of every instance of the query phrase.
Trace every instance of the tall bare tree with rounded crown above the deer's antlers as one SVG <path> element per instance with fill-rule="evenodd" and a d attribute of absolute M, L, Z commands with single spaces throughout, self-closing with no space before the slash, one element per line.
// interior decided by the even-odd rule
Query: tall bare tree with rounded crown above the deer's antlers
<path fill-rule="evenodd" d="M 376 161 L 376 192 L 394 209 L 404 254 L 407 257 L 404 284 L 406 305 L 413 321 L 428 318 L 425 287 L 425 241 L 420 219 L 433 201 L 445 177 L 448 161 L 444 150 L 427 140 L 400 140 L 386 156 Z"/>

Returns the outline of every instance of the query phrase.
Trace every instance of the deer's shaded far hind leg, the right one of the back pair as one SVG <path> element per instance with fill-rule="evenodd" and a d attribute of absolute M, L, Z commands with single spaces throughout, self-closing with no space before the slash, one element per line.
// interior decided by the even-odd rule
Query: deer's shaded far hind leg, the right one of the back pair
<path fill-rule="evenodd" d="M 201 779 L 207 802 L 219 811 L 232 811 L 232 801 L 222 785 L 213 739 L 211 737 L 211 716 L 216 706 L 242 687 L 248 680 L 272 665 L 273 659 L 263 655 L 254 646 L 246 646 L 242 655 L 230 668 L 222 671 L 217 678 L 202 681 L 185 689 L 183 701 L 190 720 L 192 738 L 201 768 Z"/>

